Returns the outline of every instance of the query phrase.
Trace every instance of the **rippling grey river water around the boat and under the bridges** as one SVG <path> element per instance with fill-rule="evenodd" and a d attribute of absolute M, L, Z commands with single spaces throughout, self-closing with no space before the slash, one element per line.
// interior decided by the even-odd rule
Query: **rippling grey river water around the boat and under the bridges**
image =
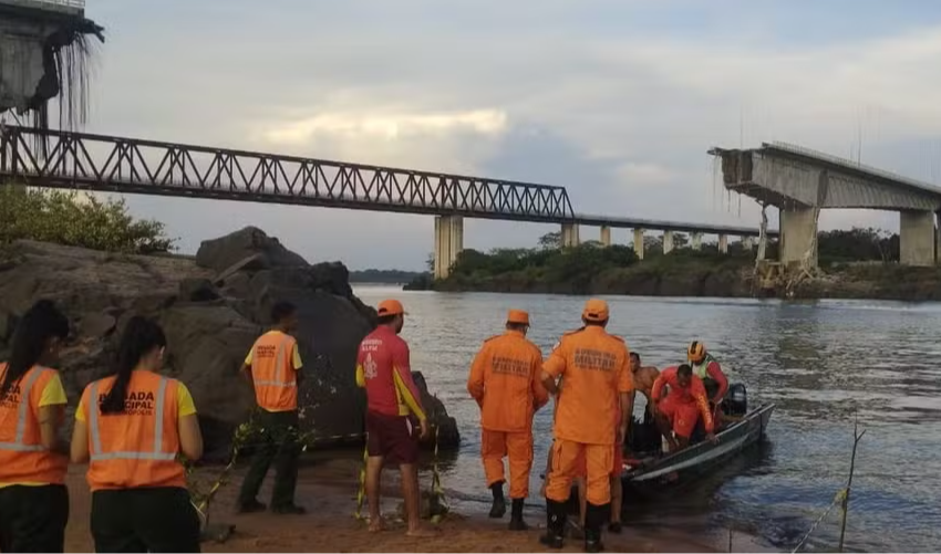
<path fill-rule="evenodd" d="M 366 303 L 394 296 L 409 312 L 403 337 L 412 367 L 457 418 L 462 448 L 443 482 L 458 502 L 488 502 L 479 461 L 479 414 L 465 386 L 480 343 L 500 332 L 509 307 L 528 310 L 529 337 L 548 354 L 579 326 L 583 297 L 402 292 L 359 286 Z M 675 502 L 634 505 L 632 525 L 732 529 L 789 550 L 846 484 L 854 421 L 866 429 L 857 457 L 847 544 L 855 552 L 941 552 L 941 304 L 606 297 L 609 331 L 644 365 L 682 362 L 704 341 L 751 406 L 777 405 L 768 443 Z M 638 412 L 643 399 L 639 399 Z M 551 440 L 551 409 L 536 416 L 530 496 Z M 837 544 L 838 510 L 811 535 L 811 550 Z"/>

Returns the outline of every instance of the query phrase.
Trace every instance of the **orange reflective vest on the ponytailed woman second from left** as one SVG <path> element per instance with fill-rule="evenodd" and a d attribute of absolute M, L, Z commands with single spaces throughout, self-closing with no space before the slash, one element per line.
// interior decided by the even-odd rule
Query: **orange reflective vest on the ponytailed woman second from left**
<path fill-rule="evenodd" d="M 115 377 L 89 385 L 82 399 L 89 426 L 89 484 L 92 491 L 186 487 L 177 461 L 179 381 L 152 372 L 134 372 L 124 411 L 102 414 L 101 401 Z"/>

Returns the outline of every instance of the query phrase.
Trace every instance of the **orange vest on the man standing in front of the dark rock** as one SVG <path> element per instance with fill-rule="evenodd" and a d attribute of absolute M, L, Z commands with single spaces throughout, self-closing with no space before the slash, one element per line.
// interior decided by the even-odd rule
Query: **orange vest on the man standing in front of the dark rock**
<path fill-rule="evenodd" d="M 251 378 L 255 399 L 267 411 L 298 409 L 298 383 L 292 364 L 297 339 L 287 333 L 266 333 L 255 342 Z"/>

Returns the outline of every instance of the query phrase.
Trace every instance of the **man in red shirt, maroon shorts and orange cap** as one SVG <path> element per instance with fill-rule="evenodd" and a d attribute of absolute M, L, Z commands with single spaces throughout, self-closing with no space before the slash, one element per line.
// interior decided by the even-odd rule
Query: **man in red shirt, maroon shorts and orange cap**
<path fill-rule="evenodd" d="M 420 519 L 418 440 L 430 433 L 418 387 L 412 379 L 409 344 L 399 336 L 405 310 L 397 300 L 385 300 L 376 310 L 379 325 L 360 343 L 356 385 L 366 389 L 366 496 L 370 531 L 382 531 L 380 483 L 383 463 L 399 466 L 409 530 L 415 537 L 434 536 Z M 421 431 L 416 436 L 413 419 Z"/>

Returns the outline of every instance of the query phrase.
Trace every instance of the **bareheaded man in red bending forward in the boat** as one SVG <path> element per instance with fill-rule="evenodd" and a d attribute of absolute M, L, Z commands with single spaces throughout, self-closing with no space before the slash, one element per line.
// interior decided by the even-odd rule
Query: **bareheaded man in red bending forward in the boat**
<path fill-rule="evenodd" d="M 669 394 L 664 394 L 664 388 L 669 388 Z M 687 364 L 664 369 L 654 381 L 651 395 L 656 407 L 656 425 L 666 438 L 671 452 L 690 445 L 690 437 L 700 418 L 705 427 L 706 438 L 715 440 L 705 387 L 702 379 L 693 375 L 693 369 Z"/>

